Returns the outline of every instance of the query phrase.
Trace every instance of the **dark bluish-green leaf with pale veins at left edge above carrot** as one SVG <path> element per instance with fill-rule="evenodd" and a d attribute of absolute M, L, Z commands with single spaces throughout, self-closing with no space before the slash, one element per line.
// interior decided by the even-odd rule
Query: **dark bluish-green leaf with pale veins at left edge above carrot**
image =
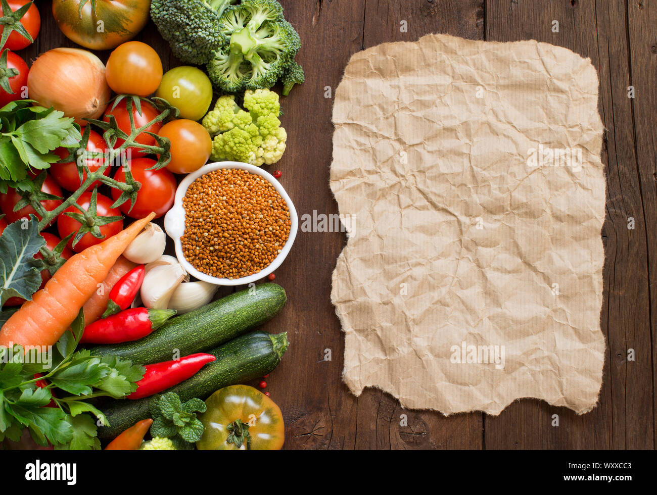
<path fill-rule="evenodd" d="M 14 296 L 30 300 L 39 290 L 43 261 L 34 255 L 43 246 L 45 239 L 39 234 L 34 215 L 27 222 L 20 220 L 5 228 L 0 236 L 0 306 Z"/>

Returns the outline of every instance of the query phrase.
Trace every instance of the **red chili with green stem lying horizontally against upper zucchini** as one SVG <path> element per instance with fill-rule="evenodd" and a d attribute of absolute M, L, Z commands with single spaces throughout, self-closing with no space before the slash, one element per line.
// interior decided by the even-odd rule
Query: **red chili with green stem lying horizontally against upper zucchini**
<path fill-rule="evenodd" d="M 175 313 L 175 309 L 126 309 L 85 326 L 80 342 L 120 344 L 139 340 L 160 328 Z"/>

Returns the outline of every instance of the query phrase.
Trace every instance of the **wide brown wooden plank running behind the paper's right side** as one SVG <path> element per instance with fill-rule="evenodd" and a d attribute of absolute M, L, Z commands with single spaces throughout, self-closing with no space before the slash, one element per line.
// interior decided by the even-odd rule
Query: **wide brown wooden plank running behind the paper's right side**
<path fill-rule="evenodd" d="M 647 253 L 648 242 L 654 246 L 648 232 L 654 229 L 646 226 L 648 205 L 633 146 L 625 3 L 490 0 L 486 13 L 491 41 L 537 39 L 591 58 L 599 71 L 599 110 L 607 129 L 602 158 L 608 188 L 601 313 L 608 349 L 599 405 L 578 417 L 545 402 L 516 402 L 497 418 L 485 418 L 486 448 L 653 448 Z M 551 29 L 553 20 L 559 22 L 558 33 Z M 654 95 L 654 88 L 643 91 Z M 635 219 L 634 230 L 627 228 L 628 217 Z M 635 362 L 627 362 L 629 348 L 635 349 Z M 553 414 L 560 416 L 558 428 L 551 426 Z"/>

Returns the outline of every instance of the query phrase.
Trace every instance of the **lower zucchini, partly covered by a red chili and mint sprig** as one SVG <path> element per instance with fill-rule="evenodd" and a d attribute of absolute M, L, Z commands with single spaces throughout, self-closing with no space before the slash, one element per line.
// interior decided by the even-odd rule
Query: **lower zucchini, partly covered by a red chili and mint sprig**
<path fill-rule="evenodd" d="M 198 397 L 206 399 L 215 391 L 252 380 L 271 372 L 281 362 L 289 343 L 287 334 L 271 335 L 252 332 L 233 339 L 210 351 L 217 360 L 206 364 L 200 372 L 162 392 L 175 392 L 185 402 Z M 137 421 L 150 416 L 150 397 L 139 400 L 110 400 L 100 406 L 110 426 L 100 427 L 101 440 L 111 440 Z"/>

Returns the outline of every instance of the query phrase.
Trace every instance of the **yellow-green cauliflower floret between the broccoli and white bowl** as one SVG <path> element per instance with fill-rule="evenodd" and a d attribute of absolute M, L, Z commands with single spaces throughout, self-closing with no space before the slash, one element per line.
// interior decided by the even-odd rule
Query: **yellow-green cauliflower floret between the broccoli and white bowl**
<path fill-rule="evenodd" d="M 252 165 L 276 163 L 285 152 L 287 133 L 281 127 L 279 95 L 269 89 L 247 90 L 242 110 L 234 95 L 219 97 L 203 119 L 212 137 L 214 160 Z"/>

